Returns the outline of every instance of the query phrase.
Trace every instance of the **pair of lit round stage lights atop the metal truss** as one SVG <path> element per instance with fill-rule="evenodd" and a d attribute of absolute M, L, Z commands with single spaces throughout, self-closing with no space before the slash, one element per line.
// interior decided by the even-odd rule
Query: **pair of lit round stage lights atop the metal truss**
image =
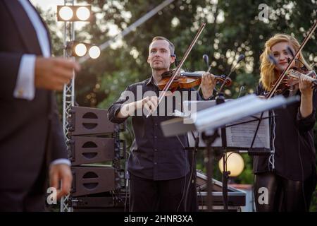
<path fill-rule="evenodd" d="M 89 21 L 92 6 L 57 6 L 58 21 Z"/>

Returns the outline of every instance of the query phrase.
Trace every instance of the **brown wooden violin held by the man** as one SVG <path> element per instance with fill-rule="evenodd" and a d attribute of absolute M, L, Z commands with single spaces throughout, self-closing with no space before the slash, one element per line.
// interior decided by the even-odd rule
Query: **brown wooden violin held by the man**
<path fill-rule="evenodd" d="M 159 90 L 163 90 L 166 84 L 170 81 L 171 76 L 173 75 L 174 70 L 166 71 L 162 74 L 162 79 L 157 84 Z M 170 85 L 170 90 L 176 90 L 179 88 L 193 88 L 194 86 L 200 85 L 201 76 L 203 72 L 180 72 L 178 76 L 175 77 L 173 83 Z M 225 75 L 222 76 L 213 76 L 216 78 L 216 83 L 221 82 L 225 83 L 225 86 L 230 86 L 232 80 L 230 78 L 225 78 Z"/>

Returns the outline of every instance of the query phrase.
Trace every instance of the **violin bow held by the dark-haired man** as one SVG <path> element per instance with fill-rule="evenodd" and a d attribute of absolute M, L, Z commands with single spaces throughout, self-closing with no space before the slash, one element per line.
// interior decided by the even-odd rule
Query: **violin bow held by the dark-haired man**
<path fill-rule="evenodd" d="M 149 110 L 149 114 L 147 114 L 147 117 L 149 117 L 150 114 L 156 110 L 156 108 L 159 106 L 159 104 L 163 100 L 163 97 L 166 95 L 166 92 L 170 88 L 170 85 L 173 83 L 173 81 L 176 78 L 176 76 L 178 75 L 178 73 L 180 73 L 180 69 L 182 68 L 182 65 L 184 64 L 185 60 L 187 59 L 189 53 L 192 51 L 192 47 L 194 47 L 194 44 L 196 44 L 196 42 L 197 42 L 199 36 L 201 35 L 201 32 L 204 30 L 205 26 L 206 26 L 206 23 L 202 23 L 200 25 L 200 28 L 199 28 L 197 34 L 195 35 L 194 40 L 192 40 L 192 43 L 187 48 L 187 50 L 186 50 L 186 52 L 184 54 L 184 57 L 182 58 L 182 60 L 178 64 L 178 66 L 176 67 L 176 69 L 175 69 L 175 71 L 173 73 L 173 76 L 170 77 L 170 80 L 168 81 L 168 83 L 166 83 L 165 87 L 161 91 L 161 94 L 159 95 L 158 104 L 156 105 L 156 107 L 154 109 L 150 109 Z"/>

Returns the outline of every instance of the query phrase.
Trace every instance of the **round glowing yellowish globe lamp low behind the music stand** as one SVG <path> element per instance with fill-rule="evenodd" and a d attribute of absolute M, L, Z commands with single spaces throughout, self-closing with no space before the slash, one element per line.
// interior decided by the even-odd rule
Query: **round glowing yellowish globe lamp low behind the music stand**
<path fill-rule="evenodd" d="M 230 171 L 229 177 L 239 176 L 244 169 L 244 160 L 238 153 L 228 152 L 227 155 L 227 171 Z M 219 169 L 223 172 L 223 158 L 219 160 Z"/>

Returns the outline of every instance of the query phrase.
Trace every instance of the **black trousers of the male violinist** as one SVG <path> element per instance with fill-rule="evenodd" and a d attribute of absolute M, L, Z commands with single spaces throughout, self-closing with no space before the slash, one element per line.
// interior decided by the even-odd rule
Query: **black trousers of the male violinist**
<path fill-rule="evenodd" d="M 196 190 L 191 185 L 188 186 L 189 177 L 190 173 L 180 179 L 154 181 L 130 174 L 130 211 L 192 211 L 192 203 L 189 202 L 189 199 Z"/>

